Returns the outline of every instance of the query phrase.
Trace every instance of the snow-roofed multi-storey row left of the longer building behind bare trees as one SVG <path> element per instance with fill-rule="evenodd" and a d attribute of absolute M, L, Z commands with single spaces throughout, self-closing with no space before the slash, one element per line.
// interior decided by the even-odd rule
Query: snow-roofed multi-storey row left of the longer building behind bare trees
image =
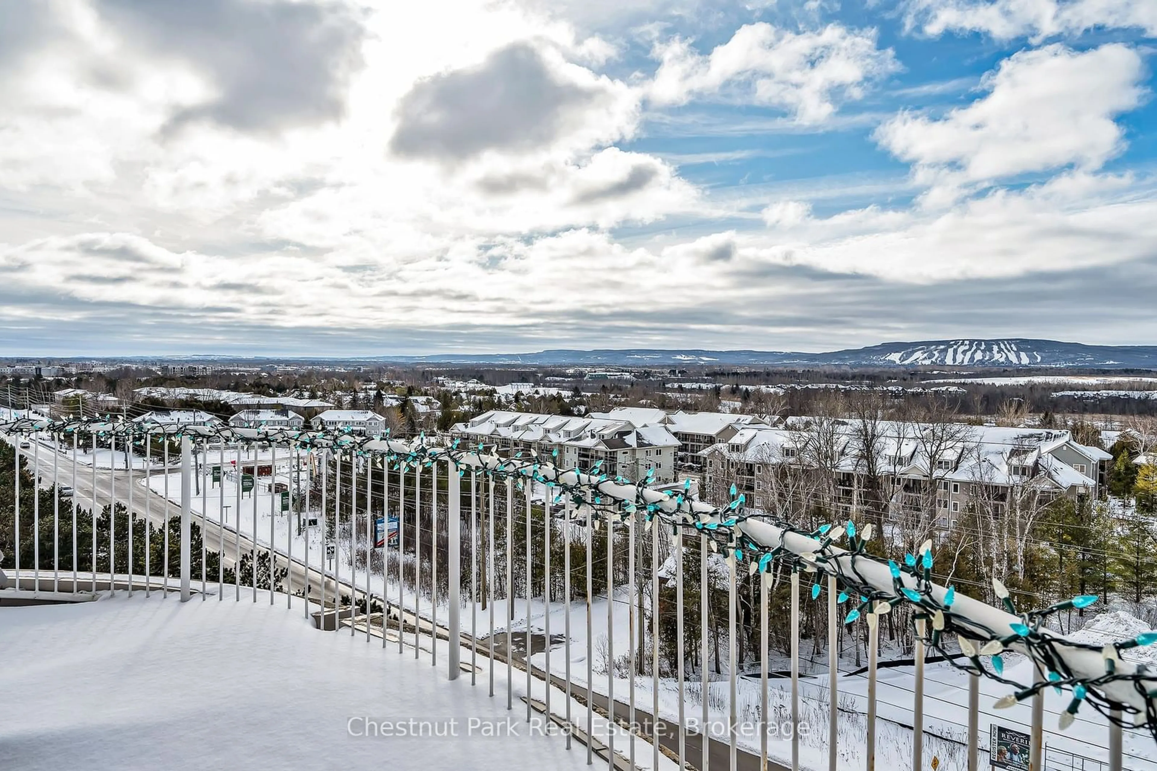
<path fill-rule="evenodd" d="M 657 482 L 675 480 L 675 455 L 679 447 L 663 426 L 639 426 L 605 417 L 568 417 L 535 412 L 492 410 L 450 429 L 470 445 L 488 445 L 504 453 L 535 450 L 541 457 L 558 450 L 563 468 L 590 469 L 641 479 L 654 470 Z"/>

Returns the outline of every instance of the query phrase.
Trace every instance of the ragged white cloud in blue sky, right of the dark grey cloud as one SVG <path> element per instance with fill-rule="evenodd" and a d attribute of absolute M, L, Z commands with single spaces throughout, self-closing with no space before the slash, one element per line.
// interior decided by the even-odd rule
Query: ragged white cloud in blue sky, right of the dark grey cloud
<path fill-rule="evenodd" d="M 899 68 L 891 49 L 876 46 L 874 30 L 830 24 L 791 32 L 758 22 L 739 28 L 709 54 L 690 41 L 657 44 L 658 71 L 648 88 L 654 104 L 710 97 L 780 108 L 803 124 L 817 124 L 838 103 L 861 98 L 872 81 Z"/>

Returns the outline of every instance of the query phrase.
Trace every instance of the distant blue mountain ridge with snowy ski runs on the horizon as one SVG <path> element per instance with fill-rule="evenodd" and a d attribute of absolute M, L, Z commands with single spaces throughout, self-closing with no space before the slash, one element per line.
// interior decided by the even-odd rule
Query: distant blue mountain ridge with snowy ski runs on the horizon
<path fill-rule="evenodd" d="M 841 366 L 841 367 L 1104 367 L 1157 368 L 1157 345 L 1084 345 L 1031 338 L 967 338 L 882 343 L 826 353 L 791 351 L 708 351 L 702 348 L 555 348 L 536 353 L 381 357 L 412 364 L 488 364 L 583 367 Z"/>

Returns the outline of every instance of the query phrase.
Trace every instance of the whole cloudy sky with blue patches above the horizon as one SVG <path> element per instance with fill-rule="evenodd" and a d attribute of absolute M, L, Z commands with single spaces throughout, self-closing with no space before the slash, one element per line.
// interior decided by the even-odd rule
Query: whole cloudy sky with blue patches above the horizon
<path fill-rule="evenodd" d="M 3 0 L 0 355 L 1157 343 L 1152 0 Z"/>

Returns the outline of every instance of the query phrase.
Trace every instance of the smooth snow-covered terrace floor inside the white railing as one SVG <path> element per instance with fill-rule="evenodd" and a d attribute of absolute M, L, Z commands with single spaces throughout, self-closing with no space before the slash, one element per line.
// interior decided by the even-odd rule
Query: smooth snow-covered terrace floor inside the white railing
<path fill-rule="evenodd" d="M 118 593 L 2 608 L 0 651 L 6 769 L 587 768 L 582 744 L 532 734 L 484 677 L 450 682 L 443 660 L 319 632 L 300 604 Z M 364 719 L 456 735 L 358 735 Z"/>

